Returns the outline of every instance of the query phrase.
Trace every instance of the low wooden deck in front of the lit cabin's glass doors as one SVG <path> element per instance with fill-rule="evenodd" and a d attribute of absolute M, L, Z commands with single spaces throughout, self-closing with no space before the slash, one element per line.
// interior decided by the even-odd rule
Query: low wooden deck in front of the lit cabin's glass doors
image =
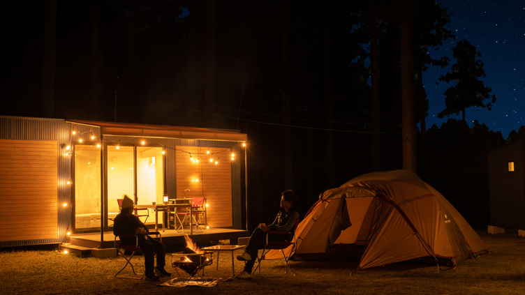
<path fill-rule="evenodd" d="M 150 229 L 151 231 L 151 229 Z M 175 229 L 166 229 L 165 231 L 160 230 L 162 236 L 162 242 L 165 245 L 177 245 L 186 244 L 184 239 L 184 233 L 177 232 Z M 189 235 L 193 240 L 193 243 L 210 243 L 211 241 L 219 240 L 230 240 L 230 244 L 237 244 L 237 239 L 244 236 L 250 236 L 251 232 L 239 229 L 221 229 L 221 228 L 209 228 L 205 229 L 204 232 L 193 231 L 192 235 Z M 72 245 L 79 245 L 87 248 L 114 248 L 114 234 L 113 232 L 104 232 L 104 241 L 101 241 L 101 233 L 89 233 L 89 234 L 72 234 L 69 237 L 69 243 Z"/>

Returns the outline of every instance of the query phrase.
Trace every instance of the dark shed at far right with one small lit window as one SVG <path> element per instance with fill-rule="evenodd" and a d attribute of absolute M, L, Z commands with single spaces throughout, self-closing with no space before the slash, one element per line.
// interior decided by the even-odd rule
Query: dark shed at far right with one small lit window
<path fill-rule="evenodd" d="M 487 153 L 491 225 L 525 229 L 524 137 Z"/>

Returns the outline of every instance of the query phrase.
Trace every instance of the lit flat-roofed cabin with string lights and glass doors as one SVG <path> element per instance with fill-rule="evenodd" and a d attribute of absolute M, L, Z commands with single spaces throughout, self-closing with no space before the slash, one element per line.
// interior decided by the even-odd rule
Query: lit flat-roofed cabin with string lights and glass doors
<path fill-rule="evenodd" d="M 205 197 L 194 241 L 248 236 L 246 139 L 236 130 L 0 116 L 0 247 L 113 247 L 124 194 L 137 205 Z M 145 213 L 164 243 L 183 243 L 175 213 Z"/>

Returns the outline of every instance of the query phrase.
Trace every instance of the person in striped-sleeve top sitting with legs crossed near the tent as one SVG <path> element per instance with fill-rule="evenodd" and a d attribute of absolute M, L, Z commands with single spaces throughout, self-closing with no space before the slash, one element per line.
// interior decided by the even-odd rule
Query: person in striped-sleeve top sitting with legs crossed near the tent
<path fill-rule="evenodd" d="M 293 232 L 295 230 L 295 222 L 299 218 L 299 213 L 293 207 L 297 202 L 297 195 L 293 190 L 285 190 L 281 194 L 281 209 L 277 212 L 274 222 L 271 225 L 261 223 L 251 234 L 246 250 L 242 255 L 237 256 L 237 260 L 245 261 L 244 271 L 235 276 L 235 278 L 246 279 L 251 278 L 251 269 L 256 263 L 259 249 L 265 248 L 266 236 L 269 231 L 276 232 L 290 232 L 288 236 L 282 234 L 268 236 L 268 241 L 282 242 L 284 240 L 291 241 L 293 239 Z"/>

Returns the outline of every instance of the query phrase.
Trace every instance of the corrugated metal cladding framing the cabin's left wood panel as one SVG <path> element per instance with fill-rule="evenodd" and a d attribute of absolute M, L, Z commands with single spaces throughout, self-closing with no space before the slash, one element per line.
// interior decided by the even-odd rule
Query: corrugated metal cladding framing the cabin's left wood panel
<path fill-rule="evenodd" d="M 30 139 L 30 140 L 54 140 L 57 145 L 71 142 L 68 133 L 68 124 L 60 119 L 37 119 L 0 116 L 0 138 L 1 139 Z M 41 245 L 47 243 L 61 243 L 64 240 L 68 225 L 71 221 L 71 186 L 66 181 L 71 178 L 71 156 L 64 156 L 62 149 L 58 148 L 58 239 L 39 239 L 26 241 L 1 242 L 0 247 L 20 245 Z"/>

